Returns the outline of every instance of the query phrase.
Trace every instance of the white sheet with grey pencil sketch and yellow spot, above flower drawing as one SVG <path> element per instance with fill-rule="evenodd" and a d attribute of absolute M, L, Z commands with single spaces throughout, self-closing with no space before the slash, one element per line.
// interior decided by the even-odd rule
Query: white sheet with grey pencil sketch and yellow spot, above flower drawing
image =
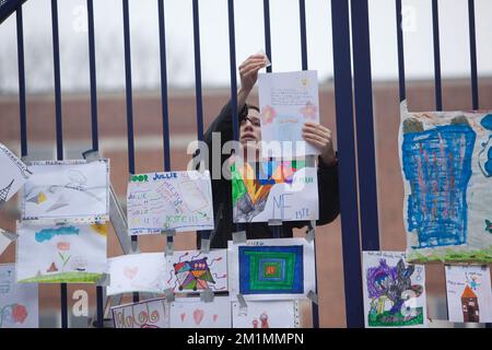
<path fill-rule="evenodd" d="M 22 218 L 107 220 L 109 162 L 32 162 Z"/>

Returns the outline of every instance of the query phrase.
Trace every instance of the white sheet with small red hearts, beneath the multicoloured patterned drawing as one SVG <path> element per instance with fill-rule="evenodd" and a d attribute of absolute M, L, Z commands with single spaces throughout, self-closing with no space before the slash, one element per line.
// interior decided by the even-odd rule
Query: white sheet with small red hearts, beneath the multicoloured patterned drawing
<path fill-rule="evenodd" d="M 231 328 L 231 300 L 215 296 L 206 303 L 200 298 L 181 298 L 171 303 L 171 328 Z"/>

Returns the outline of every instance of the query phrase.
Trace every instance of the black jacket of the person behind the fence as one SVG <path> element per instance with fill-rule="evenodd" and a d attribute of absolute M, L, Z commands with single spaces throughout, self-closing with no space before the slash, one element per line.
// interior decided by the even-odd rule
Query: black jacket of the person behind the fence
<path fill-rule="evenodd" d="M 246 106 L 244 106 L 246 108 Z M 241 112 L 239 112 L 241 115 Z M 227 103 L 219 114 L 219 116 L 212 121 L 207 129 L 203 141 L 209 148 L 209 164 L 208 168 L 211 170 L 213 164 L 212 152 L 212 132 L 221 133 L 221 150 L 222 145 L 233 139 L 233 124 L 231 114 L 231 103 Z M 221 166 L 230 155 L 221 155 Z M 318 162 L 321 164 L 320 162 Z M 339 187 L 338 187 L 338 165 L 333 166 L 318 166 L 318 198 L 319 198 L 319 219 L 316 221 L 317 225 L 324 225 L 333 221 L 340 212 L 339 202 Z M 225 248 L 227 247 L 227 241 L 232 241 L 232 233 L 237 228 L 233 223 L 233 208 L 232 208 L 232 184 L 222 177 L 221 179 L 212 178 L 212 196 L 213 196 L 213 210 L 215 219 L 215 233 L 212 234 L 210 247 L 211 248 Z M 280 237 L 292 237 L 293 228 L 306 226 L 306 221 L 285 221 L 280 230 Z M 271 238 L 273 235 L 273 229 L 268 225 L 267 222 L 254 222 L 254 223 L 241 223 L 237 224 L 241 230 L 246 231 L 248 240 Z M 197 247 L 201 245 L 201 232 L 197 234 Z"/>

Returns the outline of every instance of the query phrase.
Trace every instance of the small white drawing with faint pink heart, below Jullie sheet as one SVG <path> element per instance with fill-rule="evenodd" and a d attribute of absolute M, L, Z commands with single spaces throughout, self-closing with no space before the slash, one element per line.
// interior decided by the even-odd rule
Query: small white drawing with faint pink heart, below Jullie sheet
<path fill-rule="evenodd" d="M 110 284 L 107 295 L 149 292 L 162 293 L 165 287 L 166 260 L 163 253 L 122 255 L 108 259 Z"/>

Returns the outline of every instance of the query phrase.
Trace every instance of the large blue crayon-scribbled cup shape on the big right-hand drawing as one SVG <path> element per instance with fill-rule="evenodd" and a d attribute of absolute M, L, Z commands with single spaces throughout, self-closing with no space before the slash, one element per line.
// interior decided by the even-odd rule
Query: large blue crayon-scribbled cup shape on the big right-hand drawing
<path fill-rule="evenodd" d="M 413 248 L 467 243 L 467 188 L 475 131 L 467 124 L 403 135 L 403 173 L 410 183 L 408 231 Z"/>

